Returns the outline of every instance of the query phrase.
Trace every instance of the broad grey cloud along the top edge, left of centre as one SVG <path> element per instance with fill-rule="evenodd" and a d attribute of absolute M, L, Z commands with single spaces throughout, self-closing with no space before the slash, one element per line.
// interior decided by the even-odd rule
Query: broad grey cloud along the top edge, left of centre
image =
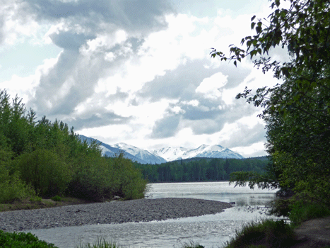
<path fill-rule="evenodd" d="M 80 0 L 51 1 L 26 0 L 29 11 L 37 16 L 37 20 L 59 21 L 66 19 L 73 25 L 102 30 L 107 24 L 126 30 L 136 31 L 158 29 L 165 26 L 162 19 L 164 13 L 172 11 L 167 1 L 114 1 L 114 0 Z"/>

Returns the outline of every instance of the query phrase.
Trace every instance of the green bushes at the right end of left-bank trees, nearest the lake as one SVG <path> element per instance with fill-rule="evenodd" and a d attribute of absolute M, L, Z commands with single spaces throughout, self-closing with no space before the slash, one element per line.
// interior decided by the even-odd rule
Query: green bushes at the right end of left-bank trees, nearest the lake
<path fill-rule="evenodd" d="M 129 159 L 122 155 L 110 159 L 85 156 L 76 160 L 69 195 L 90 201 L 105 201 L 113 196 L 124 200 L 143 198 L 146 180 Z"/>

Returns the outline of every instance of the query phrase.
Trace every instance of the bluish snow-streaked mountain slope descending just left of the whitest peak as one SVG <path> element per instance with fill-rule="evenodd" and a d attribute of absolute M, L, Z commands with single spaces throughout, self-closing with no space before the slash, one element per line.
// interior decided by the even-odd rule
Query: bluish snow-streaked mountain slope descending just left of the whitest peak
<path fill-rule="evenodd" d="M 112 147 L 116 147 L 120 150 L 124 150 L 125 152 L 129 152 L 135 157 L 146 161 L 145 164 L 161 164 L 167 162 L 167 160 L 163 159 L 163 157 L 158 156 L 157 154 L 152 154 L 148 150 L 142 150 L 139 147 L 134 147 L 133 145 L 127 145 L 125 143 L 117 143 L 112 145 Z"/>

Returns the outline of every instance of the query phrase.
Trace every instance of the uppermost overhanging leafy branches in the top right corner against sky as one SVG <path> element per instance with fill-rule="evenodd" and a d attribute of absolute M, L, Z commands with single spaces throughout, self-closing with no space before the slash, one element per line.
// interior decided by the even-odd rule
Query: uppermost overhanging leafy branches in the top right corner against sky
<path fill-rule="evenodd" d="M 216 49 L 212 50 L 212 57 L 234 60 L 237 65 L 237 61 L 241 62 L 248 55 L 251 59 L 259 56 L 254 64 L 261 66 L 264 72 L 273 69 L 277 78 L 301 74 L 306 68 L 321 72 L 330 58 L 329 1 L 290 0 L 288 8 L 281 8 L 283 5 L 283 1 L 281 4 L 280 0 L 271 0 L 273 13 L 268 18 L 251 18 L 251 29 L 256 35 L 242 38 L 241 45 L 246 44 L 246 50 L 230 45 L 230 57 Z M 293 58 L 290 62 L 271 60 L 269 51 L 278 46 L 288 47 Z M 304 88 L 308 89 L 308 86 Z"/>

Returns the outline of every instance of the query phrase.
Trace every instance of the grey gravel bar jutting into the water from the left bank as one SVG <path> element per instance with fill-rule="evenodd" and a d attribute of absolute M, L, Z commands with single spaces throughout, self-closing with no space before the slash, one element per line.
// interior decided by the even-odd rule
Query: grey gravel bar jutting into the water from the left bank
<path fill-rule="evenodd" d="M 15 210 L 0 213 L 0 230 L 5 232 L 167 220 L 220 213 L 230 203 L 191 198 L 139 199 L 66 205 L 57 208 Z"/>

